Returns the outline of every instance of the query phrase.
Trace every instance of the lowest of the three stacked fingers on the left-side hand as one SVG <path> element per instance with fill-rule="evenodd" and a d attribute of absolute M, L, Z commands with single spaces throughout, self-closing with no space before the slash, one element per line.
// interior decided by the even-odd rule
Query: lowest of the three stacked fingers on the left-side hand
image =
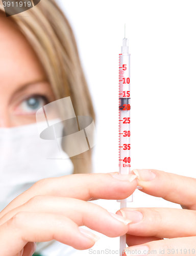
<path fill-rule="evenodd" d="M 89 235 L 90 233 L 90 235 Z M 76 223 L 61 215 L 20 211 L 0 226 L 1 255 L 11 256 L 28 242 L 57 240 L 76 249 L 88 249 L 97 241 Z M 9 239 L 8 239 L 9 238 Z"/>

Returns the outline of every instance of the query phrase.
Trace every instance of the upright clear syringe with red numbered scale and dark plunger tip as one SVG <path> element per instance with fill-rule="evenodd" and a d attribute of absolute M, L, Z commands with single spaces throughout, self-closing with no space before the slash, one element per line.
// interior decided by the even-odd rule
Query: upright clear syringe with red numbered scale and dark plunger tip
<path fill-rule="evenodd" d="M 119 174 L 131 174 L 131 95 L 130 95 L 130 56 L 128 39 L 122 39 L 121 54 L 119 54 Z M 120 202 L 120 208 L 127 207 L 127 202 L 133 201 L 133 195 Z M 120 237 L 120 256 L 126 247 L 126 234 Z"/>

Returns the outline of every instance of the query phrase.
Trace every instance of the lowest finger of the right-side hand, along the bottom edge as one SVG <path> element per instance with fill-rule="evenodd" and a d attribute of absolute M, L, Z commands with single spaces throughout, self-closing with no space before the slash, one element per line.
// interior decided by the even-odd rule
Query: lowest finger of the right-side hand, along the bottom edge
<path fill-rule="evenodd" d="M 195 254 L 195 237 L 173 238 L 153 241 L 124 249 L 123 256 L 137 255 L 174 255 Z"/>

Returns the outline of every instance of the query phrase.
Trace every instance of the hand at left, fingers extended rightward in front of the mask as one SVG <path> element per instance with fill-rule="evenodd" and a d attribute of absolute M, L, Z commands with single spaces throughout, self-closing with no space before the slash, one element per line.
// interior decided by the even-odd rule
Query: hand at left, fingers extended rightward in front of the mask
<path fill-rule="evenodd" d="M 115 174 L 75 174 L 36 182 L 0 213 L 1 255 L 30 256 L 35 242 L 54 239 L 88 249 L 99 238 L 79 228 L 83 225 L 108 237 L 127 233 L 131 221 L 86 202 L 129 197 L 136 189 L 136 176 Z"/>

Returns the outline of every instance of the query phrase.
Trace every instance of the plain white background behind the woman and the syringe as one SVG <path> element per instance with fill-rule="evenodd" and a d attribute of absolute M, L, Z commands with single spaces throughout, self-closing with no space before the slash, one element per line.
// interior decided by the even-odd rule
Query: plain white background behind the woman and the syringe
<path fill-rule="evenodd" d="M 75 33 L 95 107 L 94 172 L 118 171 L 118 54 L 126 23 L 131 53 L 132 168 L 196 177 L 196 2 L 58 2 Z M 119 208 L 115 201 L 97 203 L 112 212 Z M 130 207 L 155 206 L 180 208 L 140 191 L 130 203 Z M 99 236 L 93 249 L 119 248 L 118 238 Z"/>

